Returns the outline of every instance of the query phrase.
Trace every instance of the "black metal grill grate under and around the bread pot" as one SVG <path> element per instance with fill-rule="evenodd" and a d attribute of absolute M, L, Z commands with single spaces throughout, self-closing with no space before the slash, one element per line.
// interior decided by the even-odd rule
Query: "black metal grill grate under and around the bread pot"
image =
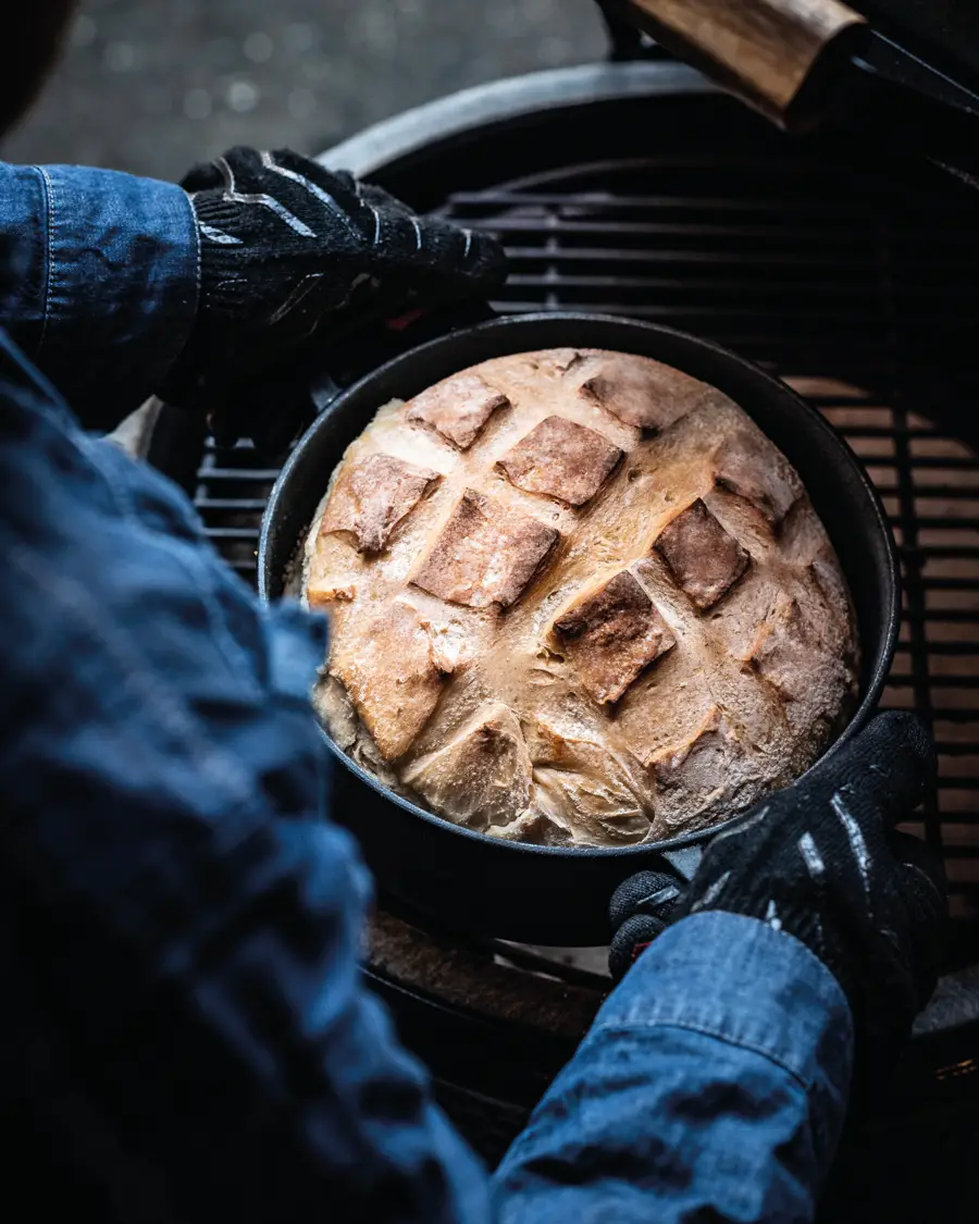
<path fill-rule="evenodd" d="M 498 233 L 503 312 L 578 308 L 679 327 L 777 372 L 848 438 L 884 497 L 904 569 L 886 707 L 934 727 L 940 786 L 919 826 L 953 913 L 979 919 L 979 226 L 974 197 L 843 158 L 678 155 L 592 163 L 444 213 Z M 950 420 L 958 424 L 950 427 Z M 208 444 L 197 507 L 255 577 L 275 470 Z M 969 923 L 970 925 L 970 923 Z M 970 935 L 975 960 L 974 931 Z M 968 958 L 968 957 L 967 957 Z"/>

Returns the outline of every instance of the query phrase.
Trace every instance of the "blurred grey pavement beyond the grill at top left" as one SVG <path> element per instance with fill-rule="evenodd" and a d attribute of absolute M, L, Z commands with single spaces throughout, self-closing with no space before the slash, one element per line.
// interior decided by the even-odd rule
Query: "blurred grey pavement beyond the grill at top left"
<path fill-rule="evenodd" d="M 180 177 L 235 143 L 317 153 L 439 94 L 603 50 L 594 0 L 82 0 L 0 154 Z"/>

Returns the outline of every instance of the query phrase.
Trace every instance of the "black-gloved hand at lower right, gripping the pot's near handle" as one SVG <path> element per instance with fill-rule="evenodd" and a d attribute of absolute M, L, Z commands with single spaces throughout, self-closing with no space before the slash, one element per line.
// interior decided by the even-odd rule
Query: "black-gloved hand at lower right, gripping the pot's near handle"
<path fill-rule="evenodd" d="M 849 1001 L 858 1065 L 890 1069 L 937 980 L 945 875 L 924 842 L 895 831 L 932 770 L 920 722 L 879 715 L 824 765 L 715 837 L 691 884 L 658 917 L 726 909 L 794 935 Z M 619 972 L 652 929 L 629 908 L 633 880 L 613 898 L 611 963 Z"/>

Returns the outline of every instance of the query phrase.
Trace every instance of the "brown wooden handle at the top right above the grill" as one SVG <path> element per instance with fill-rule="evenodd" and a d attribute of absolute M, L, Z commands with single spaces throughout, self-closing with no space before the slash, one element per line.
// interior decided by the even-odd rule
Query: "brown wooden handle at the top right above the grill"
<path fill-rule="evenodd" d="M 783 127 L 819 119 L 833 73 L 866 24 L 838 0 L 625 0 L 613 7 Z"/>

